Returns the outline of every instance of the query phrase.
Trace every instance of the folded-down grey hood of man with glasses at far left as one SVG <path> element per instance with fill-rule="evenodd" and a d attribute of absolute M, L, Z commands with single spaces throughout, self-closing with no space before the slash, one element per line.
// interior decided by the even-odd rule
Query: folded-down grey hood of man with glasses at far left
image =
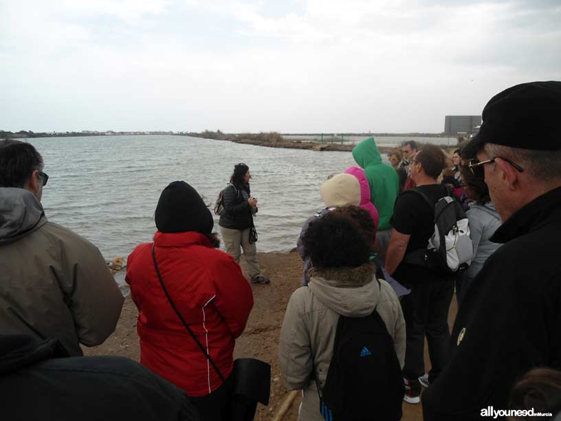
<path fill-rule="evenodd" d="M 0 245 L 19 240 L 47 222 L 43 206 L 24 188 L 0 188 Z"/>

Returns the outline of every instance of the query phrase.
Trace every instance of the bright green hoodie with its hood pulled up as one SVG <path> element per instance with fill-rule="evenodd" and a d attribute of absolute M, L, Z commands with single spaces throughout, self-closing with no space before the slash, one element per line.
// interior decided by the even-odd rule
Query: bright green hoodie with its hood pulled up
<path fill-rule="evenodd" d="M 360 142 L 353 149 L 355 162 L 364 169 L 370 184 L 370 201 L 380 215 L 379 230 L 391 228 L 393 205 L 399 194 L 399 179 L 393 166 L 384 164 L 374 138 Z"/>

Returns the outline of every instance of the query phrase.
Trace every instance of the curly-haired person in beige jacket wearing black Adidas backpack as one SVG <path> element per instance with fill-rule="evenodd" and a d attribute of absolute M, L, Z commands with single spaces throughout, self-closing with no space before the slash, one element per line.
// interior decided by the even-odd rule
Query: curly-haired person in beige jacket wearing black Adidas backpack
<path fill-rule="evenodd" d="M 370 217 L 358 206 L 349 208 Z M 302 241 L 312 263 L 309 283 L 290 297 L 281 328 L 281 374 L 290 389 L 304 392 L 299 421 L 323 419 L 314 379 L 320 388 L 325 385 L 340 316 L 362 318 L 377 312 L 393 339 L 399 365 L 404 364 L 404 316 L 391 286 L 375 277 L 370 261 L 373 233 L 362 232 L 343 213 L 333 210 L 306 230 Z M 402 398 L 398 396 L 399 408 Z"/>

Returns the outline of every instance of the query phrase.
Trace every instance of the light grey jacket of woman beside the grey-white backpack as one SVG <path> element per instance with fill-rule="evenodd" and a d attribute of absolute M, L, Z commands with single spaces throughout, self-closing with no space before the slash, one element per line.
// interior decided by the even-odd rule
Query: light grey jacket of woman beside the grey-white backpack
<path fill-rule="evenodd" d="M 463 276 L 473 279 L 483 268 L 483 263 L 487 258 L 500 246 L 500 244 L 489 240 L 489 237 L 500 226 L 500 217 L 491 202 L 487 202 L 485 206 L 474 204 L 465 215 L 470 220 L 470 236 L 474 245 L 474 258 Z"/>

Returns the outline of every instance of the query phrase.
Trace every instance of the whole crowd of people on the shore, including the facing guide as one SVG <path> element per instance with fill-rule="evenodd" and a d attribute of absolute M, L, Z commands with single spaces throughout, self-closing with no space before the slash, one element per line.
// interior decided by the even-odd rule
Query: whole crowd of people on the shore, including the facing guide
<path fill-rule="evenodd" d="M 383 397 L 384 413 L 396 408 L 397 397 L 399 409 L 384 419 L 401 418 L 402 399 L 422 400 L 428 421 L 474 420 L 489 407 L 561 411 L 560 112 L 560 82 L 516 85 L 489 100 L 478 135 L 454 153 L 458 200 L 471 201 L 466 216 L 474 255 L 463 272 L 411 259 L 434 233 L 431 204 L 454 195 L 441 182 L 439 147 L 407 142 L 404 156 L 391 155 L 392 166 L 368 138 L 353 149 L 357 166 L 322 184 L 325 208 L 298 238 L 303 286 L 289 299 L 278 350 L 286 385 L 303 390 L 299 420 L 329 418 L 333 402 L 342 411 L 343 399 L 333 393 L 362 402 L 356 387 L 333 388 L 333 378 L 344 375 L 334 367 L 348 363 L 337 359 L 346 349 L 342 338 L 361 320 L 375 326 L 380 343 L 391 344 L 388 352 L 361 347 L 356 363 L 389 362 L 356 379 L 373 391 L 371 405 Z M 80 344 L 98 345 L 115 329 L 123 296 L 94 245 L 47 221 L 41 155 L 31 144 L 1 141 L 3 413 L 228 420 L 234 341 L 253 305 L 250 282 L 269 283 L 256 259 L 250 178 L 249 167 L 237 164 L 221 195 L 227 252 L 218 250 L 212 214 L 195 188 L 179 181 L 164 188 L 154 239 L 127 262 L 140 365 L 83 357 Z M 238 264 L 241 249 L 249 279 Z M 450 333 L 454 290 L 459 311 Z M 395 374 L 394 365 L 399 385 L 376 388 Z M 33 404 L 21 399 L 23 388 L 32 390 Z M 371 407 L 347 410 L 362 414 L 353 419 L 376 417 Z"/>

